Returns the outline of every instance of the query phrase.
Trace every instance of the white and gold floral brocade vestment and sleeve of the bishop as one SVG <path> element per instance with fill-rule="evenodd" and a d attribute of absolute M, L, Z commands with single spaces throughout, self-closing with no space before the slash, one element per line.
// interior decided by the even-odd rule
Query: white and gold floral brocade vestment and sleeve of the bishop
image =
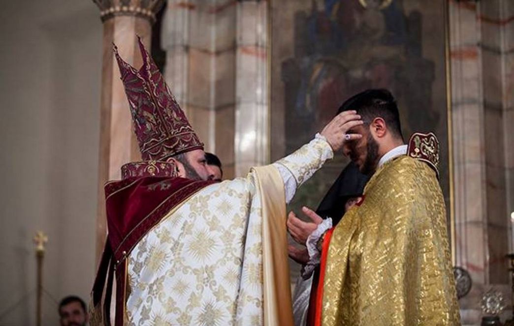
<path fill-rule="evenodd" d="M 303 182 L 331 155 L 315 139 L 279 163 Z M 128 255 L 128 324 L 263 324 L 256 178 L 252 170 L 201 189 L 142 237 Z"/>

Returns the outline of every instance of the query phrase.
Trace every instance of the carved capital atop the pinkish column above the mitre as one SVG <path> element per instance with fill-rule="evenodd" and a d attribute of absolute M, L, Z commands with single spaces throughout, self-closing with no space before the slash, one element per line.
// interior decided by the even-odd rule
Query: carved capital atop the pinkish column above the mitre
<path fill-rule="evenodd" d="M 105 22 L 114 16 L 139 16 L 150 23 L 155 22 L 155 14 L 164 4 L 164 0 L 93 0 L 100 8 L 100 18 Z"/>

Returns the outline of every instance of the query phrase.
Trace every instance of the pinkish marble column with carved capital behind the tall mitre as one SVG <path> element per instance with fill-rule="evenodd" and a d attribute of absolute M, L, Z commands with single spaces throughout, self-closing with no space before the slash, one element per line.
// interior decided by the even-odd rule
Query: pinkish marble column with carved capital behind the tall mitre
<path fill-rule="evenodd" d="M 100 162 L 97 214 L 97 262 L 105 243 L 106 220 L 103 185 L 120 179 L 124 163 L 140 159 L 137 140 L 132 132 L 132 119 L 113 43 L 123 59 L 138 68 L 141 55 L 137 46 L 139 35 L 150 48 L 152 23 L 163 0 L 93 0 L 100 9 L 103 23 L 103 60 L 100 100 Z"/>

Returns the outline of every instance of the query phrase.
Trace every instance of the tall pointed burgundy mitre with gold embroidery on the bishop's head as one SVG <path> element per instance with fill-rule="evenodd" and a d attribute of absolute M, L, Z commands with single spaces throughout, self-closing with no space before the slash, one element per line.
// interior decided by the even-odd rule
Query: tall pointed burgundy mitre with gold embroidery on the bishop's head
<path fill-rule="evenodd" d="M 204 149 L 138 36 L 143 65 L 136 70 L 114 53 L 120 68 L 142 159 L 164 161 L 194 149 Z"/>

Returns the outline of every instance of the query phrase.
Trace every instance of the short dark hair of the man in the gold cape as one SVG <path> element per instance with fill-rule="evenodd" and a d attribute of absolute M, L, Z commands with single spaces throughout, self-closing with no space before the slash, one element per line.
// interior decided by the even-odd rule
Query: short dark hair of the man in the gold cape
<path fill-rule="evenodd" d="M 382 118 L 391 132 L 403 140 L 398 106 L 393 94 L 387 89 L 367 89 L 360 92 L 346 100 L 337 113 L 347 110 L 356 110 L 365 125 L 369 125 L 377 117 Z"/>

